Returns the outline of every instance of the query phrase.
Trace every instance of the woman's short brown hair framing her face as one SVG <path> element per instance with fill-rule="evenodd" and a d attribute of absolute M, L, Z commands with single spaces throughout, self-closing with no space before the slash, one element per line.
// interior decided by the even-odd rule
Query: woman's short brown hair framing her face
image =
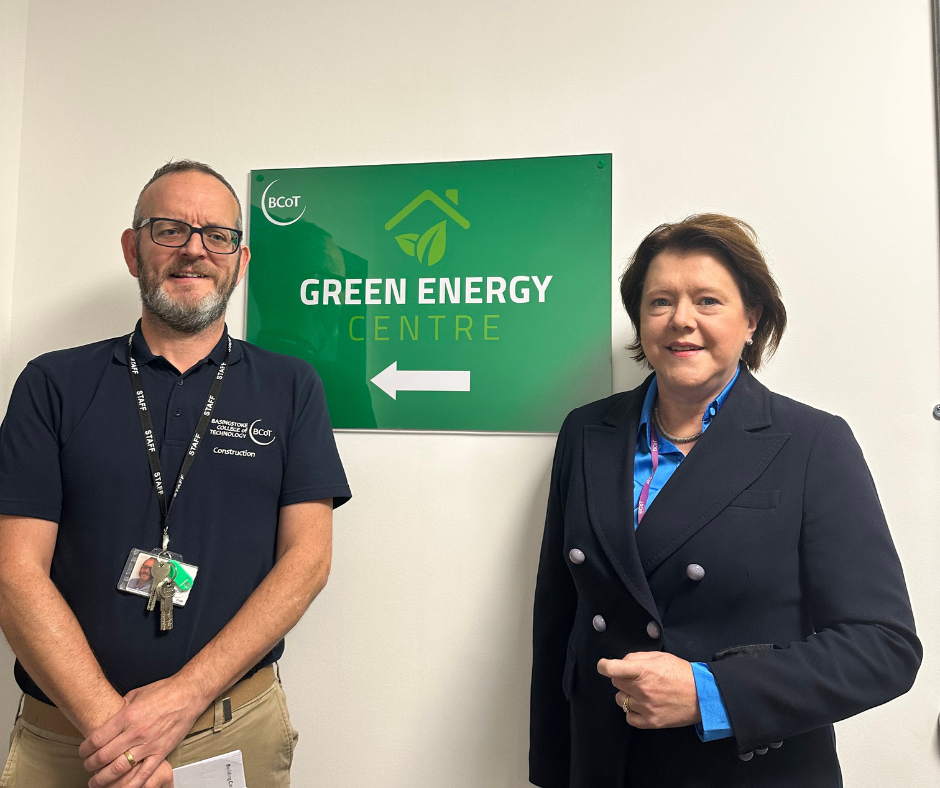
<path fill-rule="evenodd" d="M 763 309 L 753 344 L 745 345 L 741 360 L 750 370 L 760 369 L 780 345 L 787 327 L 787 310 L 767 261 L 757 247 L 757 234 L 749 224 L 720 213 L 701 213 L 674 224 L 661 224 L 637 247 L 620 277 L 620 298 L 636 332 L 628 346 L 636 361 L 650 366 L 640 341 L 640 308 L 646 272 L 662 252 L 707 252 L 724 263 L 741 291 L 745 309 Z"/>

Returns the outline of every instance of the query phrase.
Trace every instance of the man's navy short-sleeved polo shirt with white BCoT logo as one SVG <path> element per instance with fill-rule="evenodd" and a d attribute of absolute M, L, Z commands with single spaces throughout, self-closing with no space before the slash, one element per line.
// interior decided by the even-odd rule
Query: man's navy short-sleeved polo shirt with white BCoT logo
<path fill-rule="evenodd" d="M 226 331 L 180 375 L 150 352 L 138 324 L 134 358 L 168 490 L 227 346 Z M 274 565 L 281 506 L 350 497 L 313 367 L 233 340 L 212 421 L 170 509 L 170 550 L 199 572 L 161 633 L 145 597 L 117 590 L 130 550 L 152 550 L 162 534 L 127 356 L 126 336 L 40 356 L 0 426 L 0 514 L 59 524 L 52 581 L 122 695 L 176 673 L 238 612 Z M 256 668 L 283 650 L 282 640 Z M 19 662 L 15 674 L 48 702 Z"/>

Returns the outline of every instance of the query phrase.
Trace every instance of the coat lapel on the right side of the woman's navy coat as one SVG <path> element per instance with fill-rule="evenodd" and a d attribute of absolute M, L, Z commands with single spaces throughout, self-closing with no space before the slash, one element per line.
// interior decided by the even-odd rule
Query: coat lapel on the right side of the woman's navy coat
<path fill-rule="evenodd" d="M 636 532 L 647 576 L 764 472 L 790 437 L 770 433 L 771 426 L 770 392 L 742 369 L 711 426 L 650 504 Z"/>

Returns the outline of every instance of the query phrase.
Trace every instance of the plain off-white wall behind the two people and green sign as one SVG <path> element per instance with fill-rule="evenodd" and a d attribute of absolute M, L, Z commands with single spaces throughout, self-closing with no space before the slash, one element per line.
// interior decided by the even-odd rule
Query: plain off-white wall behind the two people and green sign
<path fill-rule="evenodd" d="M 0 279 L 0 327 L 13 298 L 5 370 L 132 325 L 118 237 L 170 157 L 206 160 L 247 195 L 252 167 L 613 151 L 618 271 L 664 220 L 750 221 L 791 316 L 761 377 L 855 428 L 927 649 L 909 695 L 839 726 L 846 784 L 937 784 L 929 0 L 28 4 L 18 199 L 0 192 L 4 242 L 16 223 L 12 291 Z M 185 104 L 160 108 L 162 88 Z M 17 119 L 3 118 L 5 141 Z M 4 174 L 15 160 L 3 153 Z M 84 228 L 108 240 L 76 241 Z M 612 305 L 624 389 L 641 373 Z M 338 442 L 356 497 L 336 517 L 330 585 L 283 661 L 302 731 L 296 784 L 525 785 L 552 439 Z M 16 698 L 7 676 L 0 719 Z"/>

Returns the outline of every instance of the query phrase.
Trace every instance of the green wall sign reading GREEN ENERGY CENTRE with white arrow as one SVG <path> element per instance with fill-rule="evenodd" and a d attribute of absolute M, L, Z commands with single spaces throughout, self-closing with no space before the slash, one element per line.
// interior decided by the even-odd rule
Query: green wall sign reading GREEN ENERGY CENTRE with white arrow
<path fill-rule="evenodd" d="M 333 426 L 554 432 L 611 393 L 611 156 L 254 170 L 250 342 Z"/>

